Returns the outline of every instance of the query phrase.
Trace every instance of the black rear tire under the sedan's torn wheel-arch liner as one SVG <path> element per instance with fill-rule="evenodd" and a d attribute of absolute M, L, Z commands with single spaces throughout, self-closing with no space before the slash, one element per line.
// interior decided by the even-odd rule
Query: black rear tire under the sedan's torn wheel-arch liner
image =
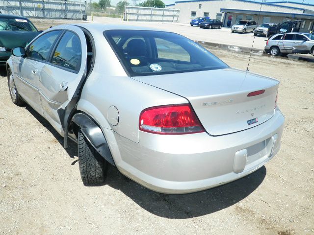
<path fill-rule="evenodd" d="M 94 186 L 105 182 L 107 162 L 86 140 L 80 130 L 78 131 L 78 165 L 80 177 L 85 186 Z"/>

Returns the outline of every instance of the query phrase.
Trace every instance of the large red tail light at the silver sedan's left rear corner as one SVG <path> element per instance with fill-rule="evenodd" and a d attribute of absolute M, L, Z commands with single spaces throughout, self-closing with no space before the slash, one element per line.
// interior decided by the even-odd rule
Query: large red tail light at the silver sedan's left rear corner
<path fill-rule="evenodd" d="M 139 129 L 163 135 L 204 132 L 204 128 L 188 104 L 144 109 L 139 117 Z"/>

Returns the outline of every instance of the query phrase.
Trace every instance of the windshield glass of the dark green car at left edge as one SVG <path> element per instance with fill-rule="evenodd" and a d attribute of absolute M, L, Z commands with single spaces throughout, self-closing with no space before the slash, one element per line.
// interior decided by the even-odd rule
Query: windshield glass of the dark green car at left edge
<path fill-rule="evenodd" d="M 36 27 L 25 19 L 0 19 L 0 31 L 38 32 Z"/>

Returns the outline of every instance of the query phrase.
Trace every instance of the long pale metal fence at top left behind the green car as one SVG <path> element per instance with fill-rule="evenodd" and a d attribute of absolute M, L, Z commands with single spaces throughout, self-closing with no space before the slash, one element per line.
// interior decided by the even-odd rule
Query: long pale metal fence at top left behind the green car
<path fill-rule="evenodd" d="M 0 0 L 0 12 L 30 18 L 87 20 L 86 1 Z"/>

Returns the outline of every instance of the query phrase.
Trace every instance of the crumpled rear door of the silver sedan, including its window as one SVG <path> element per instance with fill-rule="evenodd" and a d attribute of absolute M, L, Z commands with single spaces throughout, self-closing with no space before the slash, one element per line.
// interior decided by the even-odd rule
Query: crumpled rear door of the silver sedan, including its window
<path fill-rule="evenodd" d="M 68 25 L 52 49 L 49 63 L 40 72 L 39 94 L 47 120 L 63 134 L 62 123 L 70 101 L 86 73 L 87 44 L 78 26 Z M 70 110 L 71 111 L 71 110 Z"/>

